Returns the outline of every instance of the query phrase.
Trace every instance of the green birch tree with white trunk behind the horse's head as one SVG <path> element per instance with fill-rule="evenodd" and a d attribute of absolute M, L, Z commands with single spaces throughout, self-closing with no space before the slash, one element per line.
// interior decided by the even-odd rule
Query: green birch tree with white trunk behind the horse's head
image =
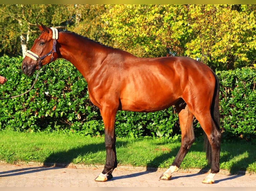
<path fill-rule="evenodd" d="M 70 18 L 66 6 L 60 5 L 0 5 L 0 52 L 23 55 L 38 36 L 36 22 L 54 26 Z"/>

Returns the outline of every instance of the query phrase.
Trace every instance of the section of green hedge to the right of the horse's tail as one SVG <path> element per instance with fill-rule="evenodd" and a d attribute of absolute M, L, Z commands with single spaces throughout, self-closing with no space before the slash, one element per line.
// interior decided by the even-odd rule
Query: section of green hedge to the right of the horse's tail
<path fill-rule="evenodd" d="M 256 135 L 256 70 L 250 68 L 217 72 L 221 80 L 221 126 L 225 136 Z"/>

